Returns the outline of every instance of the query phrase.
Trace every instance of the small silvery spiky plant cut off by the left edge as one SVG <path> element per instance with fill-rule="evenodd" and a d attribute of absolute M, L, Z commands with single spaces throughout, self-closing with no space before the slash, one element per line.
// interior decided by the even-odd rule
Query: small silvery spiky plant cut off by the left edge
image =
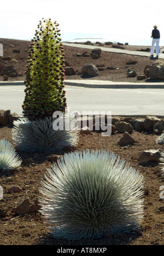
<path fill-rule="evenodd" d="M 0 141 L 0 170 L 15 169 L 21 165 L 21 159 L 9 141 Z"/>

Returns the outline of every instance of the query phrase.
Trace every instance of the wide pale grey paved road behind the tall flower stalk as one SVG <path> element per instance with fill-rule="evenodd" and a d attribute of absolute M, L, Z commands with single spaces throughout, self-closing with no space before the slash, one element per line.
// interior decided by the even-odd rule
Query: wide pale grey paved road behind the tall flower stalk
<path fill-rule="evenodd" d="M 22 113 L 25 86 L 0 86 L 0 109 Z M 66 86 L 69 111 L 112 111 L 112 115 L 164 116 L 163 89 L 94 89 Z"/>

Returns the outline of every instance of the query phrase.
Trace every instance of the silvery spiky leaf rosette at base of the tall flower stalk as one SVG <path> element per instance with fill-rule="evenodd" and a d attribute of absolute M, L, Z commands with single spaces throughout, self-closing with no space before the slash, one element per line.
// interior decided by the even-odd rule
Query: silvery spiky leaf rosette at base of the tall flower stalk
<path fill-rule="evenodd" d="M 66 146 L 75 146 L 78 130 L 54 130 L 53 123 L 52 118 L 14 121 L 12 135 L 16 146 L 22 151 L 36 152 L 60 151 Z"/>

